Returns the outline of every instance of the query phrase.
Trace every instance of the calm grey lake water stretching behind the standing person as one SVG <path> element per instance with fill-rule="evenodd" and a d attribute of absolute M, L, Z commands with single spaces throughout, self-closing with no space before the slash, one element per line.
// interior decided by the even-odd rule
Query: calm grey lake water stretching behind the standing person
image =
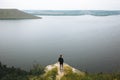
<path fill-rule="evenodd" d="M 69 65 L 90 72 L 120 70 L 120 16 L 43 16 L 0 20 L 0 60 L 29 69 L 54 64 L 59 54 Z"/>

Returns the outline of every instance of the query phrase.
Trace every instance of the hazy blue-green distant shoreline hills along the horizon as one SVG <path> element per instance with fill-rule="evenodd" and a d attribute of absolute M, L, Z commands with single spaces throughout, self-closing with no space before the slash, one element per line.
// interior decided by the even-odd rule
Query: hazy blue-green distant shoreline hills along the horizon
<path fill-rule="evenodd" d="M 112 16 L 120 15 L 120 10 L 24 10 L 33 15 L 47 16 Z"/>

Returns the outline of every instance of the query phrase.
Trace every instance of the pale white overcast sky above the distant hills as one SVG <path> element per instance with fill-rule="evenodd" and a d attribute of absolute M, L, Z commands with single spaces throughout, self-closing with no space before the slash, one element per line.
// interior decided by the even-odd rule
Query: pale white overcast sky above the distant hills
<path fill-rule="evenodd" d="M 0 8 L 40 10 L 120 10 L 120 0 L 0 0 Z"/>

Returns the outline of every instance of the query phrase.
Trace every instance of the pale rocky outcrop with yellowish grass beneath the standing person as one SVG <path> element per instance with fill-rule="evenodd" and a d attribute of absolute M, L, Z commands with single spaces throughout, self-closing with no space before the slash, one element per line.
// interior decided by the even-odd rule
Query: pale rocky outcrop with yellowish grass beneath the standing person
<path fill-rule="evenodd" d="M 82 72 L 78 69 L 75 69 L 75 68 L 71 67 L 70 65 L 68 65 L 66 63 L 64 63 L 63 66 L 64 66 L 63 71 L 61 71 L 59 63 L 48 65 L 48 66 L 45 67 L 45 72 L 47 74 L 50 71 L 52 71 L 53 69 L 57 68 L 56 80 L 61 80 L 62 77 L 64 77 L 65 75 L 69 75 L 71 73 L 76 73 L 80 76 L 85 76 L 84 72 Z"/>

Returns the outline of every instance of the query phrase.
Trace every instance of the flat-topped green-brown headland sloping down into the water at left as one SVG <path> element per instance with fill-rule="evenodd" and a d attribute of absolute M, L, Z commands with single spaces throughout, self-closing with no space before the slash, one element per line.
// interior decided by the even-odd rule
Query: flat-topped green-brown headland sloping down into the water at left
<path fill-rule="evenodd" d="M 0 19 L 40 19 L 18 9 L 0 9 Z"/>

